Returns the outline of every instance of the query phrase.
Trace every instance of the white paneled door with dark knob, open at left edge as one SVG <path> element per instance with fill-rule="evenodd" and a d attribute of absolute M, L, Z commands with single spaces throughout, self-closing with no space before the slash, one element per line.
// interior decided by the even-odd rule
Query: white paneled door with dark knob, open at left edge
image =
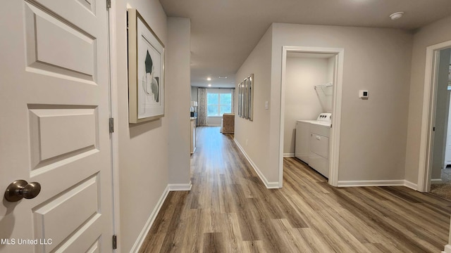
<path fill-rule="evenodd" d="M 112 252 L 106 0 L 1 4 L 0 252 Z"/>

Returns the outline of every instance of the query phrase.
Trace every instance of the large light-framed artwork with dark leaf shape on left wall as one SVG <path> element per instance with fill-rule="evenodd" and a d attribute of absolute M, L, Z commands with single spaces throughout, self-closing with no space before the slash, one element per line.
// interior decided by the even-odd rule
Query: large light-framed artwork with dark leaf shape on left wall
<path fill-rule="evenodd" d="M 128 9 L 129 122 L 164 116 L 164 45 L 134 8 Z"/>

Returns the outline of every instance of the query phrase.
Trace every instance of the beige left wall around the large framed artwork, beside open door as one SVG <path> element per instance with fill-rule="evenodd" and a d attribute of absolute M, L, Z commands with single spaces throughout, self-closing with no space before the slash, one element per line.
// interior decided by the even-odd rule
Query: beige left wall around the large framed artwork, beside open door
<path fill-rule="evenodd" d="M 127 8 L 137 8 L 166 44 L 167 18 L 159 1 L 118 0 L 116 6 L 116 77 L 121 252 L 130 252 L 168 186 L 168 117 L 128 124 Z M 166 98 L 170 94 L 166 93 Z M 167 113 L 167 108 L 166 108 Z M 187 133 L 188 135 L 188 133 Z M 143 187 L 145 193 L 143 193 Z M 139 193 L 139 194 L 137 194 Z"/>

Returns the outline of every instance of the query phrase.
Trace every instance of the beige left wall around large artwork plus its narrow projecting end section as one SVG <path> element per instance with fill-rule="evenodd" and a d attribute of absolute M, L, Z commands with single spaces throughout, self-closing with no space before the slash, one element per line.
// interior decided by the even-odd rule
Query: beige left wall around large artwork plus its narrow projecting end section
<path fill-rule="evenodd" d="M 190 169 L 190 58 L 189 20 L 170 19 L 157 0 L 118 0 L 116 4 L 116 68 L 118 100 L 118 167 L 121 252 L 130 252 L 168 183 L 188 183 Z M 128 124 L 127 8 L 137 8 L 166 48 L 166 108 L 161 119 Z M 169 27 L 169 29 L 168 29 Z M 169 30 L 169 32 L 168 32 Z M 175 34 L 178 33 L 178 34 Z M 171 39 L 171 41 L 168 41 Z M 173 39 L 180 39 L 173 43 Z M 173 53 L 180 53 L 176 63 Z M 180 76 L 173 77 L 177 71 Z M 175 82 L 175 83 L 174 83 Z M 177 87 L 176 87 L 177 86 Z M 176 91 L 180 89 L 181 94 Z M 180 126 L 173 126 L 174 122 Z M 172 128 L 171 128 L 172 127 Z M 180 136 L 177 140 L 168 138 Z M 169 164 L 169 148 L 178 160 Z M 180 166 L 179 166 L 180 165 Z M 170 170 L 171 166 L 171 170 Z M 175 176 L 176 175 L 176 176 Z M 171 179 L 169 178 L 171 176 Z"/>

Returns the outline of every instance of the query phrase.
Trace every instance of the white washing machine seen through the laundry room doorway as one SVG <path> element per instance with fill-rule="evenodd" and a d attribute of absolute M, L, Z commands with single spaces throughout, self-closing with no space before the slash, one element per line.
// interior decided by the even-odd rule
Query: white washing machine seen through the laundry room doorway
<path fill-rule="evenodd" d="M 316 120 L 296 122 L 295 157 L 329 177 L 329 138 L 332 114 L 321 113 Z"/>

